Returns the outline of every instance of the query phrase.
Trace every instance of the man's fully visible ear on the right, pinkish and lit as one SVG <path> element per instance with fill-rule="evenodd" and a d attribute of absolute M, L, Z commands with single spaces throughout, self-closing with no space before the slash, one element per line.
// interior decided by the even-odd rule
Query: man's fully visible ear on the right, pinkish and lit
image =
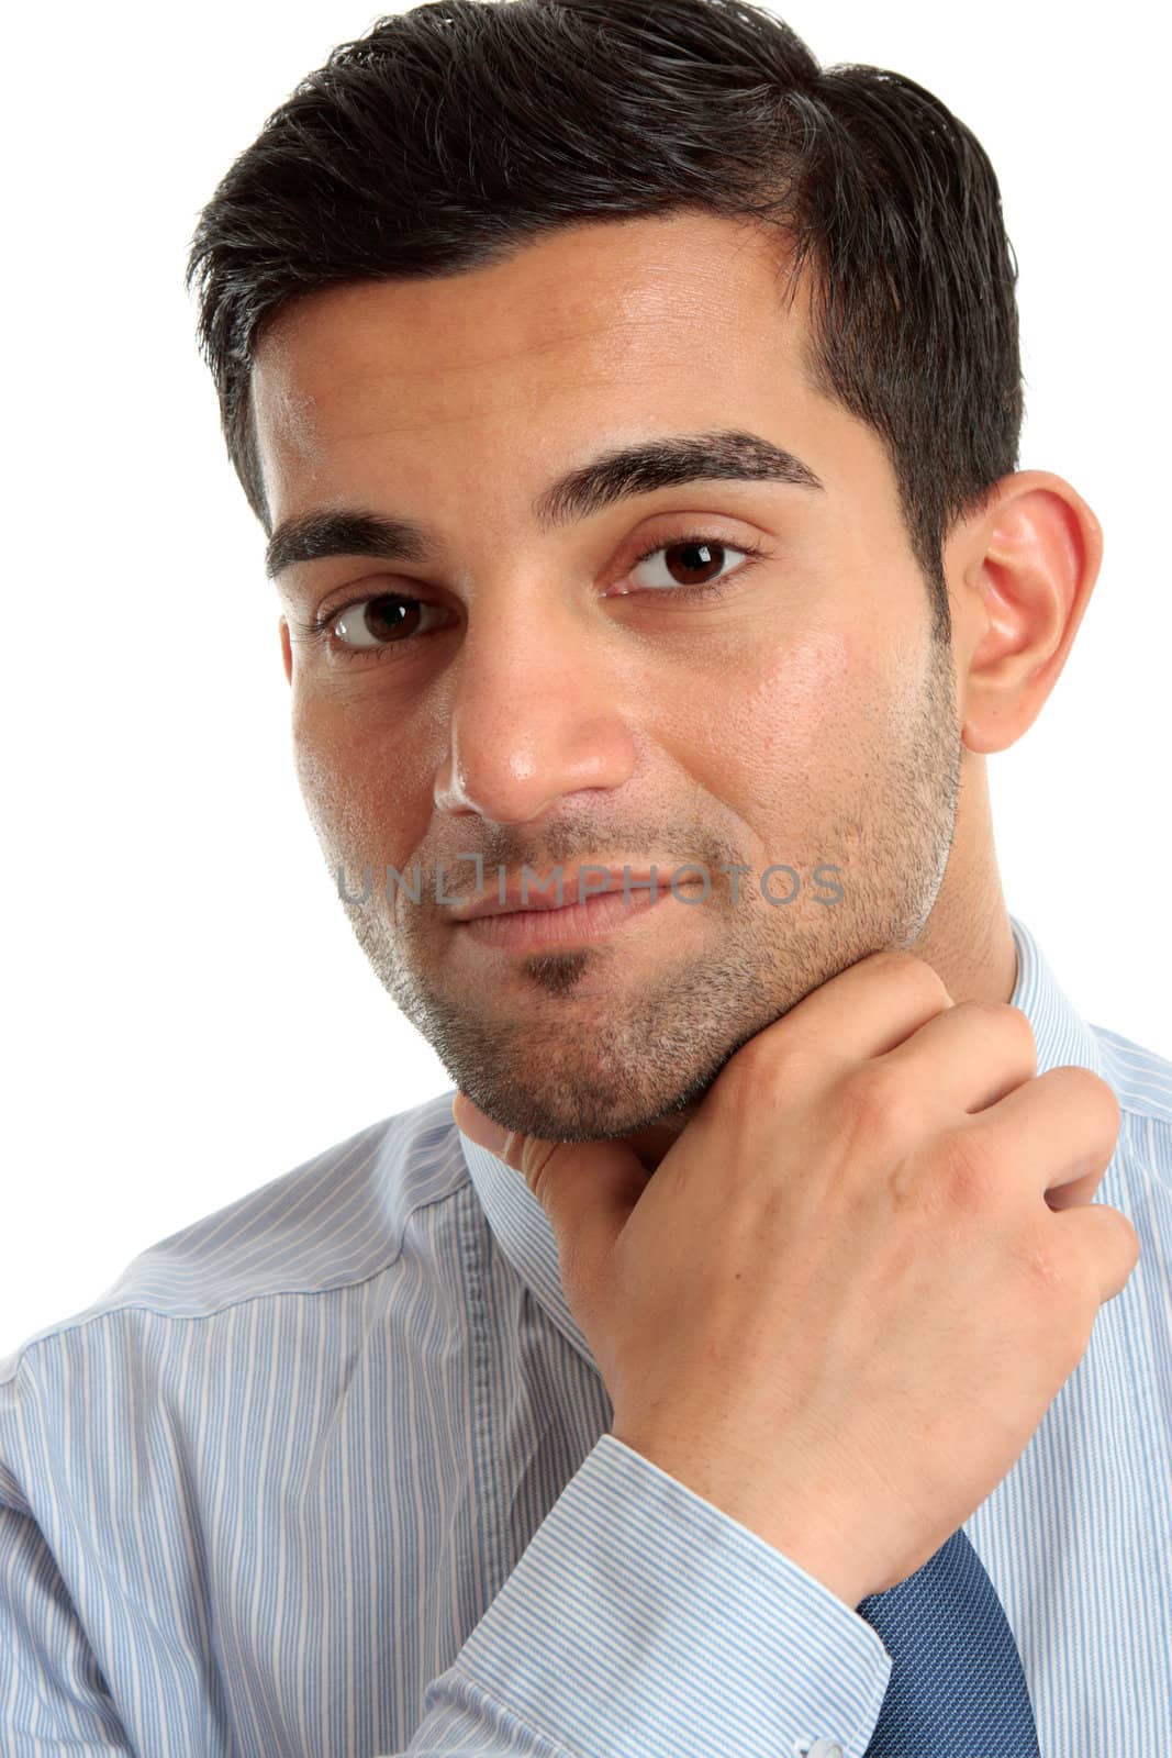
<path fill-rule="evenodd" d="M 952 541 L 958 548 L 952 550 Z M 1033 724 L 1067 663 L 1103 557 L 1098 519 L 1068 482 L 1005 476 L 949 541 L 961 740 L 1005 751 Z"/>

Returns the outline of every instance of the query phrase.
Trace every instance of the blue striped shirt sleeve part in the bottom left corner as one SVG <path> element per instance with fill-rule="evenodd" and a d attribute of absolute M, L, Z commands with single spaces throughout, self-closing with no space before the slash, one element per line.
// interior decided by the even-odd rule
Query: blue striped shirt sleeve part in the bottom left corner
<path fill-rule="evenodd" d="M 0 1751 L 134 1758 L 44 1533 L 2 1500 Z"/>

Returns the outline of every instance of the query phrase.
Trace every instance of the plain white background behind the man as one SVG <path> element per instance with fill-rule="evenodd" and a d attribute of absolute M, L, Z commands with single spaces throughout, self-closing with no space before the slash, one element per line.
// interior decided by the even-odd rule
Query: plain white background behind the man
<path fill-rule="evenodd" d="M 183 292 L 235 153 L 376 16 L 202 0 L 7 26 L 0 1355 L 156 1239 L 452 1086 L 304 816 L 264 534 Z M 1137 0 L 784 16 L 822 63 L 926 84 L 998 171 L 1021 468 L 1067 476 L 1105 529 L 1051 701 L 989 758 L 1005 895 L 1086 1018 L 1172 1055 L 1167 60 Z"/>

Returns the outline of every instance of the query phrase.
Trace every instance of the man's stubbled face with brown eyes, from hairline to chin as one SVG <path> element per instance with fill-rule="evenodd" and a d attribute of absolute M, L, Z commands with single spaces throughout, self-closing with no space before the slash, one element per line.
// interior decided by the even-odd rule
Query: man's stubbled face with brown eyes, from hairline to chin
<path fill-rule="evenodd" d="M 257 353 L 274 526 L 364 508 L 430 531 L 425 561 L 278 571 L 297 768 L 380 981 L 527 1134 L 687 1115 L 812 988 L 910 946 L 944 879 L 952 656 L 879 436 L 805 378 L 807 292 L 787 309 L 777 260 L 710 214 L 582 225 L 497 267 L 311 294 Z M 538 517 L 603 452 L 720 429 L 822 487 L 631 475 Z M 705 584 L 724 591 L 687 596 Z M 343 605 L 332 642 L 299 633 Z M 587 863 L 699 872 L 529 946 L 443 902 L 529 867 L 575 904 Z M 420 902 L 395 883 L 416 865 Z"/>

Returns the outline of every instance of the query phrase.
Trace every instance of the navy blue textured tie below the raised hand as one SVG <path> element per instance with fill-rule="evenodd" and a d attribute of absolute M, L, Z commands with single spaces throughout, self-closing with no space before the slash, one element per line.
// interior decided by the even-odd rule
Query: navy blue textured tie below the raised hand
<path fill-rule="evenodd" d="M 1014 1631 L 963 1528 L 856 1610 L 891 1654 L 865 1758 L 1040 1758 Z"/>

